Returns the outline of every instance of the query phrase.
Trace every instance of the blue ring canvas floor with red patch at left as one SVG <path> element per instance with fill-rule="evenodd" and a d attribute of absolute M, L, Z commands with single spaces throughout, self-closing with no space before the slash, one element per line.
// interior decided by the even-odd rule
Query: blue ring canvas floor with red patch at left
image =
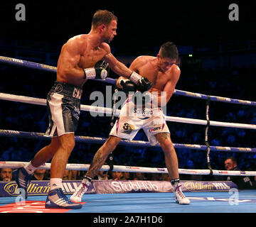
<path fill-rule="evenodd" d="M 184 192 L 189 205 L 174 201 L 173 193 L 86 194 L 82 209 L 45 209 L 46 196 L 28 196 L 17 205 L 14 197 L 0 198 L 0 213 L 255 213 L 256 191 L 242 190 L 238 198 L 229 192 Z M 69 197 L 69 196 L 68 196 Z M 95 215 L 94 215 L 95 216 Z"/>

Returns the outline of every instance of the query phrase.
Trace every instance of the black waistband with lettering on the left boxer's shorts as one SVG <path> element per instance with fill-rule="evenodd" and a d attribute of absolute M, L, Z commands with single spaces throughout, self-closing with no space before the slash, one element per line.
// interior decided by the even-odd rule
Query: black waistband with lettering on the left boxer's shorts
<path fill-rule="evenodd" d="M 51 89 L 51 92 L 55 92 L 58 94 L 65 94 L 75 99 L 81 99 L 82 87 L 73 85 L 73 84 L 68 84 L 65 82 L 55 81 Z"/>

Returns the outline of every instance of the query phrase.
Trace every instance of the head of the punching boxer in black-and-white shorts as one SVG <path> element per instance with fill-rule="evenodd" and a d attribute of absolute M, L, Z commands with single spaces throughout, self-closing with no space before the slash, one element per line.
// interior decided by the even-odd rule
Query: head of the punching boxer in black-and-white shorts
<path fill-rule="evenodd" d="M 98 10 L 92 18 L 92 29 L 99 29 L 102 40 L 110 43 L 117 35 L 117 16 L 107 10 Z"/>

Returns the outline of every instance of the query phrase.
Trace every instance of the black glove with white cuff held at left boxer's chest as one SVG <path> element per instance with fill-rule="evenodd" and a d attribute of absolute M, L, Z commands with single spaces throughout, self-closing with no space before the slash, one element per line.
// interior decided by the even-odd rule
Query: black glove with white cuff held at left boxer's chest
<path fill-rule="evenodd" d="M 84 79 L 106 79 L 110 74 L 109 64 L 104 60 L 97 62 L 95 67 L 83 69 L 85 72 Z"/>

